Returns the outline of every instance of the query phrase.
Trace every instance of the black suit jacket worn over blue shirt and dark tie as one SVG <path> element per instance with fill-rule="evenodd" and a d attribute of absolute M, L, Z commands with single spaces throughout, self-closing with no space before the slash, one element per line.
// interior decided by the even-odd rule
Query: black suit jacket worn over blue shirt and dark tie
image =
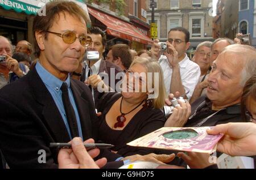
<path fill-rule="evenodd" d="M 97 137 L 98 118 L 90 89 L 71 79 L 71 89 L 80 115 L 84 140 Z M 57 168 L 56 149 L 49 143 L 69 142 L 68 131 L 55 101 L 31 70 L 26 76 L 0 90 L 0 149 L 10 168 Z M 97 139 L 97 138 L 96 138 Z M 46 152 L 46 163 L 43 160 Z"/>

